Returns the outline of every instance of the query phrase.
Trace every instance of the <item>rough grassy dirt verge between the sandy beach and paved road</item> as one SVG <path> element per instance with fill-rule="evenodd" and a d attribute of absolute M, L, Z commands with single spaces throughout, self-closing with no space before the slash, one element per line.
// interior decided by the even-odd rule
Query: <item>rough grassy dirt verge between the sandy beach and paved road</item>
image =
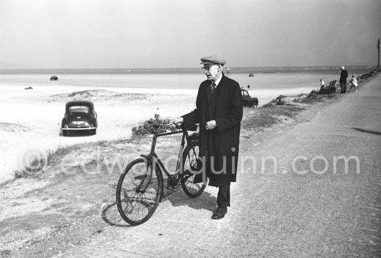
<path fill-rule="evenodd" d="M 308 122 L 320 109 L 341 97 L 336 96 L 305 104 L 305 109 L 294 118 L 281 117 L 271 127 L 243 128 L 241 154 L 249 153 L 252 146 L 285 128 Z M 253 112 L 245 108 L 245 119 Z M 162 138 L 158 155 L 163 159 L 176 156 L 179 137 Z M 52 257 L 86 244 L 107 227 L 129 227 L 116 208 L 116 184 L 127 163 L 140 154 L 148 154 L 150 143 L 150 136 L 97 142 L 91 147 L 73 149 L 63 159 L 51 160 L 54 165 L 44 169 L 44 173 L 1 185 L 0 257 Z M 170 167 L 174 165 L 173 159 Z"/>

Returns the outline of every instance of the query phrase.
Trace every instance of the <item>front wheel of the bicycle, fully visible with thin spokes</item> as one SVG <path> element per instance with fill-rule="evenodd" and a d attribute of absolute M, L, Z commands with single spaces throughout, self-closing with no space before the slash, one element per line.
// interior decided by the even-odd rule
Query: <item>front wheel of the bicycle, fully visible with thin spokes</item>
<path fill-rule="evenodd" d="M 158 167 L 143 158 L 132 161 L 118 181 L 116 205 L 119 214 L 130 225 L 148 221 L 159 205 L 163 177 Z"/>

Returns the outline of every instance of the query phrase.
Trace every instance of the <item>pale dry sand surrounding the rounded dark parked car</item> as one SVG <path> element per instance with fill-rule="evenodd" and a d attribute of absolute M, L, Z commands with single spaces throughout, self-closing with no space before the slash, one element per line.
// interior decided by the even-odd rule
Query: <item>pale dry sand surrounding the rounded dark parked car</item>
<path fill-rule="evenodd" d="M 96 86 L 0 86 L 0 182 L 14 178 L 26 155 L 46 152 L 80 142 L 129 138 L 131 128 L 155 113 L 165 118 L 194 109 L 195 90 L 134 89 Z M 89 91 L 87 98 L 73 92 Z M 60 136 L 64 104 L 85 99 L 95 103 L 98 131 L 95 136 Z"/>

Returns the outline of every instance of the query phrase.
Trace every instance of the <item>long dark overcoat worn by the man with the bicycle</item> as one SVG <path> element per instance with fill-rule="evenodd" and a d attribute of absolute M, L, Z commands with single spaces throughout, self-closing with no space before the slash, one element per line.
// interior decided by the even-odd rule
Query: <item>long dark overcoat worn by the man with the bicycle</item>
<path fill-rule="evenodd" d="M 185 116 L 184 127 L 200 124 L 199 158 L 209 177 L 209 185 L 236 182 L 242 120 L 242 94 L 238 82 L 222 74 L 213 95 L 211 81 L 200 84 L 196 109 Z M 215 120 L 217 127 L 206 130 L 206 122 Z"/>

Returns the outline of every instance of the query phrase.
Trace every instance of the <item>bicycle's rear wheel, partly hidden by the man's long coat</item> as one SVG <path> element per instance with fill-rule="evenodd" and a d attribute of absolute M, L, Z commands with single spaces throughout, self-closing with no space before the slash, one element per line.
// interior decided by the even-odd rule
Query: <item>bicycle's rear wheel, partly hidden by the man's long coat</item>
<path fill-rule="evenodd" d="M 197 157 L 198 157 L 198 143 L 193 144 L 193 146 L 188 146 L 184 150 L 183 154 L 183 172 L 187 169 L 192 168 L 193 171 L 197 166 Z M 191 198 L 200 196 L 208 183 L 208 178 L 204 183 L 193 183 L 195 174 L 183 174 L 181 176 L 181 187 L 183 188 L 186 195 Z"/>

